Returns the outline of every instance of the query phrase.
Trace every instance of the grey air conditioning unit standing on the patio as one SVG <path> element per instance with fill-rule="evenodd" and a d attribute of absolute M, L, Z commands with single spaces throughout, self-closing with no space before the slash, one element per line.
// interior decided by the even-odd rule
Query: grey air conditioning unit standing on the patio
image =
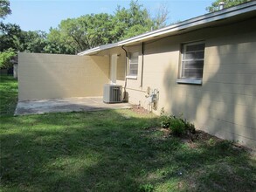
<path fill-rule="evenodd" d="M 106 84 L 103 90 L 104 103 L 120 103 L 121 102 L 121 86 Z"/>

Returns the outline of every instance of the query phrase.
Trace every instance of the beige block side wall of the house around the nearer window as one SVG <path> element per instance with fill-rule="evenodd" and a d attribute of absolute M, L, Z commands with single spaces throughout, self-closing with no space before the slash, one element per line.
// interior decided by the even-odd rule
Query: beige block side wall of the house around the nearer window
<path fill-rule="evenodd" d="M 256 19 L 145 44 L 144 67 L 128 79 L 129 102 L 149 108 L 147 87 L 159 91 L 158 107 L 218 137 L 256 149 Z M 181 45 L 205 42 L 203 84 L 177 84 Z M 137 50 L 137 47 L 128 47 Z M 143 84 L 141 77 L 143 76 Z"/>

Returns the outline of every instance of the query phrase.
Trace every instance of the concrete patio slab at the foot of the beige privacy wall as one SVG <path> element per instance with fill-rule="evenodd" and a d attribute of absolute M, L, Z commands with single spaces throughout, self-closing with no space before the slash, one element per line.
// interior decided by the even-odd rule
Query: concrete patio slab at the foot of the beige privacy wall
<path fill-rule="evenodd" d="M 103 99 L 97 98 L 66 98 L 66 99 L 42 99 L 19 101 L 15 115 L 97 111 L 104 109 L 131 108 L 128 103 L 103 103 Z"/>

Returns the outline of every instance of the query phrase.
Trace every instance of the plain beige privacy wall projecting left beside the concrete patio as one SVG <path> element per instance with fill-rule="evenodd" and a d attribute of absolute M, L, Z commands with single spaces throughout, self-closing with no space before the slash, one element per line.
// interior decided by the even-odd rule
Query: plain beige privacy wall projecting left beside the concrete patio
<path fill-rule="evenodd" d="M 18 54 L 18 99 L 102 96 L 107 56 Z"/>

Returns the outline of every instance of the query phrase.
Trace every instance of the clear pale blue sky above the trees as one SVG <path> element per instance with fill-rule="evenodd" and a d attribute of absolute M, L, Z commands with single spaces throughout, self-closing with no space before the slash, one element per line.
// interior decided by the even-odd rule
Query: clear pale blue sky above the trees
<path fill-rule="evenodd" d="M 207 13 L 214 0 L 138 0 L 151 15 L 165 4 L 170 11 L 167 24 Z M 3 23 L 18 24 L 24 31 L 46 31 L 61 20 L 86 14 L 114 14 L 117 6 L 128 8 L 130 0 L 10 0 L 11 15 Z M 0 19 L 1 20 L 1 19 Z"/>

